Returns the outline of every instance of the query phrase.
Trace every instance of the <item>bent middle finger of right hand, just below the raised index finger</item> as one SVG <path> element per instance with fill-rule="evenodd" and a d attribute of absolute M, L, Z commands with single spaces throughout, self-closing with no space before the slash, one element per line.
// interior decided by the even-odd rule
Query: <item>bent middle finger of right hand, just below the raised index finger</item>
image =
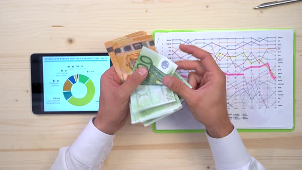
<path fill-rule="evenodd" d="M 202 66 L 201 61 L 177 61 L 175 62 L 178 65 L 177 69 L 184 69 L 184 70 L 195 70 L 199 74 L 204 74 L 205 69 Z"/>

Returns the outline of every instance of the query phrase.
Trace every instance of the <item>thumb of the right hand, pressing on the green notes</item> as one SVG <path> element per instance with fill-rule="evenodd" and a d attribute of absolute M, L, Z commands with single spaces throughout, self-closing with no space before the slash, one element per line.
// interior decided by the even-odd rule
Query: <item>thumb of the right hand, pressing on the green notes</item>
<path fill-rule="evenodd" d="M 184 100 L 190 98 L 192 89 L 190 89 L 185 83 L 174 76 L 165 76 L 162 80 L 163 84 L 171 91 L 180 95 Z"/>

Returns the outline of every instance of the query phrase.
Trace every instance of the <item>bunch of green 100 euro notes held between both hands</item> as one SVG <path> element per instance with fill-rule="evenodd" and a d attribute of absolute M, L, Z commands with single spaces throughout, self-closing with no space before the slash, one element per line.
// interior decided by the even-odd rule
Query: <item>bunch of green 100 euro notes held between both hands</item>
<path fill-rule="evenodd" d="M 148 75 L 131 94 L 131 123 L 141 122 L 147 126 L 182 109 L 178 95 L 162 85 L 164 76 L 174 76 L 190 88 L 192 87 L 181 75 L 175 72 L 178 67 L 176 63 L 145 47 L 142 48 L 133 71 L 140 67 L 147 68 Z"/>

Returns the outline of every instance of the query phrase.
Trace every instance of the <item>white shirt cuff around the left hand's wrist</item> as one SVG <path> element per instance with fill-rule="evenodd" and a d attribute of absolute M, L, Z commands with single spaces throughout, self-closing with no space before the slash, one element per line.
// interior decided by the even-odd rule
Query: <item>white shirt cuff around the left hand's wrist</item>
<path fill-rule="evenodd" d="M 96 166 L 102 164 L 112 149 L 114 135 L 98 130 L 93 119 L 70 146 L 69 152 L 84 164 Z"/>

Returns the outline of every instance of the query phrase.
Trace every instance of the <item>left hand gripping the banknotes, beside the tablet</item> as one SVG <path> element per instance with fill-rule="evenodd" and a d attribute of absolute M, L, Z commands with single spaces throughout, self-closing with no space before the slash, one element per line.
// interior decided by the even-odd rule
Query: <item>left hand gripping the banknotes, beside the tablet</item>
<path fill-rule="evenodd" d="M 129 97 L 146 78 L 148 70 L 136 70 L 124 83 L 119 79 L 114 67 L 101 77 L 99 112 L 94 125 L 103 133 L 113 135 L 124 125 L 129 109 Z"/>

